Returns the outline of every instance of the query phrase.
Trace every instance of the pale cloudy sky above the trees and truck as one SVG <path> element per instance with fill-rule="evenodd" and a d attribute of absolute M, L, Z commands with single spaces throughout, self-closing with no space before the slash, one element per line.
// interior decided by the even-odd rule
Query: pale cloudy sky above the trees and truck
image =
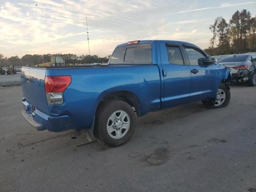
<path fill-rule="evenodd" d="M 36 5 L 37 4 L 37 5 Z M 207 48 L 209 25 L 236 10 L 256 15 L 246 0 L 0 0 L 0 54 L 91 54 L 107 56 L 130 40 L 166 39 Z"/>

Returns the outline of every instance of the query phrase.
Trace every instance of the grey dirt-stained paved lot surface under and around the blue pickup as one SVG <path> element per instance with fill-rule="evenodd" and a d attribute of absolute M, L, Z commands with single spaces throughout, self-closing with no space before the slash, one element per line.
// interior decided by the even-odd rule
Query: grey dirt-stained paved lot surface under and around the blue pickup
<path fill-rule="evenodd" d="M 143 116 L 130 142 L 108 148 L 34 130 L 21 87 L 0 88 L 0 191 L 255 192 L 256 87 L 231 94 L 226 108 L 196 102 Z"/>

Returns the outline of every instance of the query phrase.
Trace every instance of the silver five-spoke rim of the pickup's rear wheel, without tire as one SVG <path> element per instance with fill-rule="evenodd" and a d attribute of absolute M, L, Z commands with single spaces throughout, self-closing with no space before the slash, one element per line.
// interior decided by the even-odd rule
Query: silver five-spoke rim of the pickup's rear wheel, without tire
<path fill-rule="evenodd" d="M 118 110 L 108 118 L 107 131 L 113 139 L 124 137 L 130 128 L 130 118 L 128 114 L 122 110 Z"/>

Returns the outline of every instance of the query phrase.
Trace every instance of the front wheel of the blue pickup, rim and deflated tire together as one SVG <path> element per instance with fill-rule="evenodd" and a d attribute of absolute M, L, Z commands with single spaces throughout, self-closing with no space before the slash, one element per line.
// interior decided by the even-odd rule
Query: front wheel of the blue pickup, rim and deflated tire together
<path fill-rule="evenodd" d="M 225 84 L 220 84 L 215 99 L 204 100 L 202 104 L 207 108 L 221 108 L 228 106 L 230 101 L 230 90 Z"/>

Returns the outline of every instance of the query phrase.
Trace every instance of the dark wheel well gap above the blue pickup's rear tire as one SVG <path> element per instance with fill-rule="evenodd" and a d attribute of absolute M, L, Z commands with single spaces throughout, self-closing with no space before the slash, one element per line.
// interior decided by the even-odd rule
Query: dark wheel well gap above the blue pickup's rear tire
<path fill-rule="evenodd" d="M 131 107 L 135 108 L 137 116 L 140 116 L 140 101 L 134 93 L 129 91 L 118 91 L 104 96 L 104 98 L 98 104 L 97 110 L 104 102 L 111 99 L 121 100 L 128 103 Z"/>

